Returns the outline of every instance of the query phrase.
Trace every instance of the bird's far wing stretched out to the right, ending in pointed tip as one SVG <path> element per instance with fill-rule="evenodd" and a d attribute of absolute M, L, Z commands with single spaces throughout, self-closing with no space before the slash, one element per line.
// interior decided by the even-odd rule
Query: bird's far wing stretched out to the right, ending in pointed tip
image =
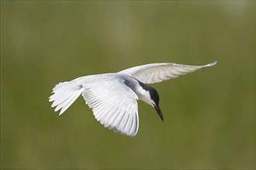
<path fill-rule="evenodd" d="M 169 80 L 186 73 L 194 72 L 203 67 L 214 66 L 217 62 L 209 63 L 205 66 L 189 66 L 177 63 L 151 63 L 143 66 L 135 66 L 119 73 L 126 73 L 134 76 L 143 83 L 158 83 Z"/>

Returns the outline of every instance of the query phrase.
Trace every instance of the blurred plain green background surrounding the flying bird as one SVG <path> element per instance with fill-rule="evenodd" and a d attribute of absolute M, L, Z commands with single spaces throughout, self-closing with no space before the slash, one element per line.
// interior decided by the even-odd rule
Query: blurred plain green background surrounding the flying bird
<path fill-rule="evenodd" d="M 254 169 L 254 1 L 1 1 L 2 169 Z M 61 116 L 56 83 L 146 63 L 216 66 L 153 84 L 136 137 Z"/>

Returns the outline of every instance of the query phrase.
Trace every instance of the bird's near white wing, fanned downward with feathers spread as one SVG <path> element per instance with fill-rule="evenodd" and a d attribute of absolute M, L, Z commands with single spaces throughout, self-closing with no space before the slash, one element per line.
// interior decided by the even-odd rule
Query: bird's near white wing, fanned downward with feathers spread
<path fill-rule="evenodd" d="M 95 81 L 97 82 L 97 81 Z M 97 121 L 120 134 L 135 136 L 139 128 L 137 94 L 123 80 L 99 80 L 82 93 Z"/>

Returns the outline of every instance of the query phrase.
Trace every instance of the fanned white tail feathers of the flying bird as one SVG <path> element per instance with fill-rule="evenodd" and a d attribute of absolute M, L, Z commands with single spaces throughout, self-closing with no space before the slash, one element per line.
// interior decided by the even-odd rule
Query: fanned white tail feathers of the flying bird
<path fill-rule="evenodd" d="M 49 97 L 50 102 L 54 101 L 51 107 L 57 106 L 54 111 L 61 109 L 61 115 L 74 103 L 74 100 L 76 100 L 83 91 L 84 87 L 74 81 L 58 83 L 53 89 L 52 93 L 54 94 Z"/>

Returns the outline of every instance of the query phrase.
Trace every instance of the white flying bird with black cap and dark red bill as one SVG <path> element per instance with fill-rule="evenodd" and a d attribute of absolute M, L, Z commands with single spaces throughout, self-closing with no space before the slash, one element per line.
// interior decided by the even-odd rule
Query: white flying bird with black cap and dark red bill
<path fill-rule="evenodd" d="M 81 95 L 85 104 L 92 108 L 95 119 L 105 128 L 133 137 L 139 129 L 137 100 L 154 107 L 161 121 L 164 121 L 159 107 L 159 94 L 148 84 L 176 78 L 216 63 L 217 61 L 204 66 L 150 63 L 117 73 L 81 76 L 58 83 L 53 88 L 49 101 L 53 102 L 51 107 L 56 107 L 54 111 L 61 110 L 61 115 Z"/>

